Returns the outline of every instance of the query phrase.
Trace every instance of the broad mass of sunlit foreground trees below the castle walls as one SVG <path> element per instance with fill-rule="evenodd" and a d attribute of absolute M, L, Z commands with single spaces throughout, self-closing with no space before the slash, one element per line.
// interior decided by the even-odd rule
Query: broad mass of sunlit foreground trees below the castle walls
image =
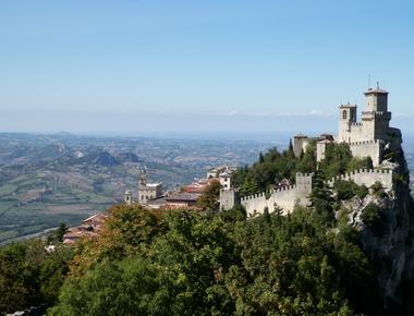
<path fill-rule="evenodd" d="M 355 231 L 307 209 L 245 220 L 110 210 L 85 241 L 49 315 L 354 315 L 376 309 L 374 276 Z"/>

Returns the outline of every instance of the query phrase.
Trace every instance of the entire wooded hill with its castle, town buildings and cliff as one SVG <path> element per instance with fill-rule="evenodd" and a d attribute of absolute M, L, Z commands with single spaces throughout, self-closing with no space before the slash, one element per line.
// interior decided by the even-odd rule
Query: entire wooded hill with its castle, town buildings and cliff
<path fill-rule="evenodd" d="M 134 165 L 121 203 L 0 251 L 0 314 L 414 315 L 402 134 L 388 92 L 365 98 L 360 120 L 340 106 L 336 135 L 293 136 L 176 190 Z"/>

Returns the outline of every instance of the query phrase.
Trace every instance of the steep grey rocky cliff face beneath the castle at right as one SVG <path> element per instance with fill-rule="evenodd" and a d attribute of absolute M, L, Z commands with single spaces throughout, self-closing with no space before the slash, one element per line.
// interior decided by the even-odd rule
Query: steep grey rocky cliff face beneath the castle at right
<path fill-rule="evenodd" d="M 350 220 L 360 229 L 361 243 L 377 269 L 378 285 L 386 314 L 412 315 L 414 300 L 414 207 L 410 194 L 410 174 L 400 148 L 394 151 L 393 189 L 383 196 L 368 195 L 351 200 Z M 375 226 L 364 222 L 368 205 L 376 206 Z M 410 312 L 410 313 L 411 313 Z"/>

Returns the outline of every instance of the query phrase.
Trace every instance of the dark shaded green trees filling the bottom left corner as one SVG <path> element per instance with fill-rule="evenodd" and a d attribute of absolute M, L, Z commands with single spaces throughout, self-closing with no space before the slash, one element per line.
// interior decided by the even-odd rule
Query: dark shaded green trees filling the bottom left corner
<path fill-rule="evenodd" d="M 39 240 L 1 247 L 0 314 L 54 304 L 72 256 L 63 245 L 48 252 Z"/>

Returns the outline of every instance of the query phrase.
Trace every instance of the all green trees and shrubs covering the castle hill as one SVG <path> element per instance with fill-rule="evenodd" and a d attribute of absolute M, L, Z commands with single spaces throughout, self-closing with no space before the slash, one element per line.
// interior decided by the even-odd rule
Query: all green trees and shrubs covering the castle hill
<path fill-rule="evenodd" d="M 120 205 L 108 210 L 100 236 L 82 241 L 68 257 L 40 252 L 32 267 L 32 246 L 1 248 L 0 313 L 44 303 L 48 315 L 411 315 L 410 295 L 386 301 L 382 259 L 367 256 L 361 239 L 365 228 L 385 235 L 378 203 L 388 195 L 379 184 L 352 181 L 330 190 L 325 179 L 370 161 L 353 159 L 343 145 L 329 150 L 330 162 L 314 177 L 312 206 L 288 216 L 270 209 L 246 219 L 240 205 L 220 212 Z M 296 171 L 315 172 L 314 166 L 312 150 L 294 158 L 272 149 L 239 170 L 236 181 L 266 190 Z M 354 224 L 348 204 L 362 202 L 369 206 Z M 57 272 L 42 268 L 49 262 Z M 412 289 L 407 280 L 404 287 Z"/>

